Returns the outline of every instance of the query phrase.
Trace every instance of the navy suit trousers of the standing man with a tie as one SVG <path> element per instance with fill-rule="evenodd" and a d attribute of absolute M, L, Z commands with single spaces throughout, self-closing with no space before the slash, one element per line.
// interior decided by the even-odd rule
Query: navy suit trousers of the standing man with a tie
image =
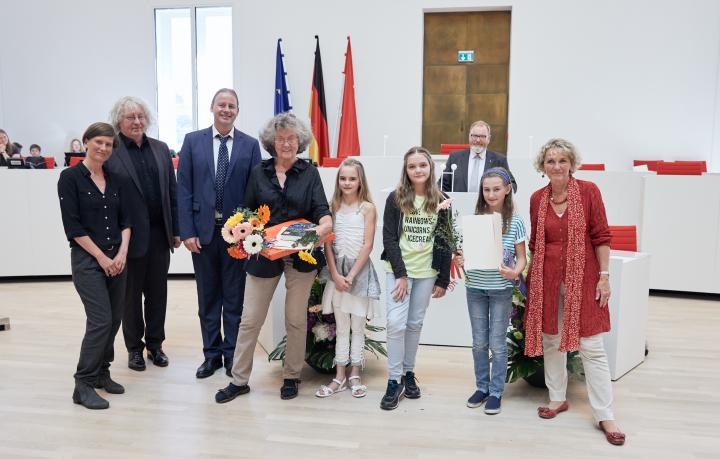
<path fill-rule="evenodd" d="M 198 316 L 206 359 L 225 357 L 232 362 L 235 354 L 240 317 L 245 296 L 245 270 L 242 260 L 227 253 L 228 244 L 216 226 L 212 241 L 193 253 L 193 267 L 198 290 Z M 220 333 L 222 319 L 222 330 Z"/>

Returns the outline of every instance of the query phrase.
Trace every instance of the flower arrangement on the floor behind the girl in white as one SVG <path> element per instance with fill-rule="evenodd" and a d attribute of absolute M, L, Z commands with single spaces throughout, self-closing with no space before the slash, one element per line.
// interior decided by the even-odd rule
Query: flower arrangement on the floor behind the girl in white
<path fill-rule="evenodd" d="M 321 303 L 324 290 L 325 285 L 316 278 L 308 299 L 305 361 L 320 373 L 332 373 L 335 371 L 333 362 L 335 359 L 335 315 L 322 313 Z M 366 324 L 365 330 L 375 333 L 383 331 L 385 328 Z M 286 345 L 287 336 L 268 355 L 268 361 L 285 360 Z M 379 355 L 387 357 L 383 343 L 368 336 L 365 337 L 365 350 L 371 352 L 376 358 L 379 358 Z"/>

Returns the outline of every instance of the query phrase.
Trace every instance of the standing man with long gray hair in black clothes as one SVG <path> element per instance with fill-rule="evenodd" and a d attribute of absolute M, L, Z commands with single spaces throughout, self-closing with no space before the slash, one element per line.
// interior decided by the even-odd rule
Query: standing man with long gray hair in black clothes
<path fill-rule="evenodd" d="M 162 349 L 167 274 L 170 252 L 180 247 L 175 171 L 167 144 L 145 134 L 153 121 L 147 104 L 137 97 L 121 98 L 110 112 L 120 142 L 107 165 L 132 185 L 127 187 L 133 235 L 122 326 L 128 367 L 136 371 L 145 370 L 145 348 L 155 365 L 169 363 Z"/>

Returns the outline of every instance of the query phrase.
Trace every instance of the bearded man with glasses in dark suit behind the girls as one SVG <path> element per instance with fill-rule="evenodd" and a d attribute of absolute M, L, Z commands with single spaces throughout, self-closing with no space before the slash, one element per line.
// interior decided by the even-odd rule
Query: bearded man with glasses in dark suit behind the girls
<path fill-rule="evenodd" d="M 485 121 L 478 120 L 470 125 L 468 150 L 454 151 L 450 153 L 445 170 L 443 171 L 440 185 L 443 191 L 459 191 L 478 193 L 480 191 L 480 177 L 483 173 L 493 167 L 502 167 L 510 172 L 507 158 L 500 153 L 487 149 L 490 144 L 490 125 Z M 455 173 L 452 174 L 452 165 L 455 164 Z M 453 175 L 455 180 L 453 183 Z M 510 181 L 513 191 L 517 191 L 515 177 L 510 173 Z"/>

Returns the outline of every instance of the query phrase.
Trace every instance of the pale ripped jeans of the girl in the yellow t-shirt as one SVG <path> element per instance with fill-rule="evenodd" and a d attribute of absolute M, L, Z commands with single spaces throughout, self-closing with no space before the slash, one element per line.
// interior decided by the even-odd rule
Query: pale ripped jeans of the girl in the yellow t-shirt
<path fill-rule="evenodd" d="M 400 377 L 415 369 L 415 357 L 420 344 L 425 311 L 435 286 L 435 277 L 408 278 L 408 294 L 396 302 L 392 295 L 395 276 L 387 273 L 387 346 L 388 379 L 400 382 Z"/>

